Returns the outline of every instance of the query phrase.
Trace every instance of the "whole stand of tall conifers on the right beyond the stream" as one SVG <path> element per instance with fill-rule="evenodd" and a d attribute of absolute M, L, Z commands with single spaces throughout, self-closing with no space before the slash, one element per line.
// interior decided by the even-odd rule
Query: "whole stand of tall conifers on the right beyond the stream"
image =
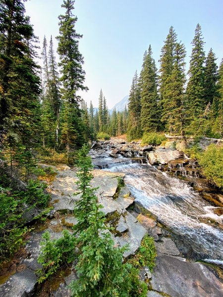
<path fill-rule="evenodd" d="M 223 60 L 218 68 L 210 49 L 205 56 L 201 26 L 192 41 L 186 79 L 185 46 L 171 26 L 161 49 L 158 71 L 151 45 L 145 51 L 140 75 L 135 72 L 128 103 L 127 135 L 144 133 L 223 136 Z"/>

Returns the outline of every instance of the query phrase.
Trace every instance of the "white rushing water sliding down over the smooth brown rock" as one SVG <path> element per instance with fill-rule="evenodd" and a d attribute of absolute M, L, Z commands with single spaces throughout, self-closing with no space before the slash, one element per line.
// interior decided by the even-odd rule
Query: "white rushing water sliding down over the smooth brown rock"
<path fill-rule="evenodd" d="M 222 262 L 223 230 L 208 223 L 222 218 L 191 187 L 149 164 L 119 163 L 105 170 L 125 173 L 135 201 L 154 213 L 198 258 Z"/>

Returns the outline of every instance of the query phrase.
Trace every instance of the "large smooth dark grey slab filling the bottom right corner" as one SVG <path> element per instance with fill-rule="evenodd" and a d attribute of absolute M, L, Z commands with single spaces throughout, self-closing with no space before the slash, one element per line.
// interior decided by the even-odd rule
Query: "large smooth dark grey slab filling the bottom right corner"
<path fill-rule="evenodd" d="M 205 265 L 160 253 L 153 270 L 151 286 L 153 290 L 172 297 L 223 296 L 223 284 Z"/>

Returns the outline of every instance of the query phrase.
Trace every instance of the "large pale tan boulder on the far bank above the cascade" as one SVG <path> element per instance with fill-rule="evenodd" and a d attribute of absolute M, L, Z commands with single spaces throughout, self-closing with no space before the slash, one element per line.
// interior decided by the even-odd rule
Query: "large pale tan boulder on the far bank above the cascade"
<path fill-rule="evenodd" d="M 182 152 L 171 149 L 160 149 L 148 153 L 149 161 L 154 164 L 167 164 L 171 160 L 182 157 Z"/>

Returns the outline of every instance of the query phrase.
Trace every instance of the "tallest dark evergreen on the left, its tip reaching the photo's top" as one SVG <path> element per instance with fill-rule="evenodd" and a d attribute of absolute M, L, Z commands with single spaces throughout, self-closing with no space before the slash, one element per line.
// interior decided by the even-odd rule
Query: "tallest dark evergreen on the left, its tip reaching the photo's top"
<path fill-rule="evenodd" d="M 74 0 L 63 0 L 61 7 L 65 14 L 59 16 L 59 36 L 57 52 L 60 57 L 61 67 L 61 137 L 66 151 L 81 146 L 83 143 L 83 123 L 79 107 L 79 90 L 87 90 L 84 86 L 85 72 L 82 68 L 83 56 L 79 52 L 78 44 L 82 35 L 77 34 L 75 23 L 77 17 L 73 15 Z M 63 113 L 63 114 L 62 114 Z"/>

